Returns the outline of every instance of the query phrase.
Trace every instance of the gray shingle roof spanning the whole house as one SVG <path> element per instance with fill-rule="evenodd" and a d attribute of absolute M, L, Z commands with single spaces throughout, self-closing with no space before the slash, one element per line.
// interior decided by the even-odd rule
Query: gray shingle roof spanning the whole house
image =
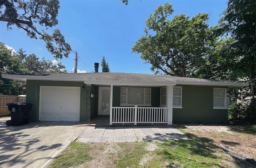
<path fill-rule="evenodd" d="M 176 83 L 176 84 L 196 84 L 196 85 L 214 85 L 221 84 L 223 86 L 248 86 L 248 84 L 240 82 L 229 82 L 224 80 L 211 80 L 201 78 L 188 78 L 167 75 L 155 74 L 140 74 L 140 73 L 122 73 L 122 72 L 93 72 L 93 73 L 69 73 L 69 74 L 18 74 L 19 79 L 26 76 L 26 79 L 52 78 L 56 80 L 76 79 L 87 82 L 128 82 L 128 83 Z M 17 77 L 18 78 L 18 77 Z"/>

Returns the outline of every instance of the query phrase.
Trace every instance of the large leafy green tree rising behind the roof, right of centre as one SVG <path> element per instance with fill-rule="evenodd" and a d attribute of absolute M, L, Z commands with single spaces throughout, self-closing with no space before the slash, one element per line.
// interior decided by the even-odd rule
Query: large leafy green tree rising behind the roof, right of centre
<path fill-rule="evenodd" d="M 174 76 L 190 76 L 204 63 L 210 29 L 208 14 L 197 14 L 190 19 L 180 14 L 173 20 L 174 12 L 169 3 L 160 5 L 146 20 L 143 35 L 132 47 L 132 52 L 141 53 L 151 70 Z"/>

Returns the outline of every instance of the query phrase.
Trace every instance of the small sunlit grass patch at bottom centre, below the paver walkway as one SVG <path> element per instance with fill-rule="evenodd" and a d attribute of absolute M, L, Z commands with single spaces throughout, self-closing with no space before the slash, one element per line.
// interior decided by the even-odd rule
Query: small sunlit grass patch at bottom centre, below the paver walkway
<path fill-rule="evenodd" d="M 138 168 L 139 162 L 147 152 L 146 142 L 118 143 L 118 159 L 114 160 L 117 168 Z"/>

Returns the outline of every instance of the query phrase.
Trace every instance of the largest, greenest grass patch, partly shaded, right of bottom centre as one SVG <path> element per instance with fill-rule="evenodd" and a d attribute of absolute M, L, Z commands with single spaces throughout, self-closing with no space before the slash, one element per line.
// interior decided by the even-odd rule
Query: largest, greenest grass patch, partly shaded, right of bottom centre
<path fill-rule="evenodd" d="M 152 152 L 153 159 L 147 168 L 184 167 L 214 168 L 222 167 L 224 157 L 214 154 L 216 147 L 212 140 L 190 134 L 192 140 L 170 140 L 156 143 L 158 149 Z M 220 164 L 219 164 L 220 163 Z"/>

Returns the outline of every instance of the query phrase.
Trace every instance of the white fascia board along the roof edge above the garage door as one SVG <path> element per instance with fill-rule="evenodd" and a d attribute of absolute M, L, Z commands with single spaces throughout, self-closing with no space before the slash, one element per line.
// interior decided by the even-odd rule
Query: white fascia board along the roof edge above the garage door
<path fill-rule="evenodd" d="M 15 75 L 15 74 L 2 74 L 3 78 L 19 80 L 26 82 L 26 80 L 58 80 L 58 81 L 80 81 L 84 82 L 84 78 L 65 78 L 59 76 L 31 76 L 31 75 Z"/>

